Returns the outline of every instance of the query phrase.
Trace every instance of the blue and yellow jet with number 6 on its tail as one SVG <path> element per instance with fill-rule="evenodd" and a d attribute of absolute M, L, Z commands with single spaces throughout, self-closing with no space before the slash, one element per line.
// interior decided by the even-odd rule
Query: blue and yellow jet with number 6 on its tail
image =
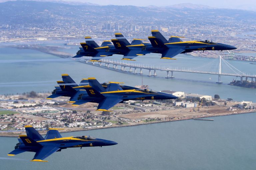
<path fill-rule="evenodd" d="M 36 152 L 31 161 L 48 162 L 44 159 L 62 149 L 73 147 L 110 146 L 117 143 L 111 140 L 91 136 L 62 137 L 56 128 L 50 128 L 45 137 L 40 135 L 32 126 L 25 126 L 27 135 L 20 135 L 15 149 L 8 156 L 23 152 Z"/>

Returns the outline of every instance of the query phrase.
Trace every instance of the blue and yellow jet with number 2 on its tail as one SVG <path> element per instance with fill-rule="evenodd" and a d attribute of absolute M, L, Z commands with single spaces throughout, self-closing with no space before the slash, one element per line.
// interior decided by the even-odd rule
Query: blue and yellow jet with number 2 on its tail
<path fill-rule="evenodd" d="M 110 82 L 107 88 L 103 88 L 95 78 L 88 78 L 89 85 L 83 86 L 87 93 L 80 94 L 73 106 L 78 106 L 87 102 L 99 103 L 97 111 L 108 111 L 108 109 L 118 103 L 127 100 L 166 100 L 177 99 L 178 97 L 157 92 L 151 89 L 130 89 L 123 90 L 116 82 Z M 75 87 L 74 87 L 75 88 Z M 81 88 L 80 86 L 78 88 Z"/>

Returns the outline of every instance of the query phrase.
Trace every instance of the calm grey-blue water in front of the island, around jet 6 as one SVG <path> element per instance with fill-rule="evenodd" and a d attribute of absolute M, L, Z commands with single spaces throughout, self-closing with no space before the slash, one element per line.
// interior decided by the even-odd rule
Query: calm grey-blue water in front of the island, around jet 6
<path fill-rule="evenodd" d="M 63 133 L 118 144 L 64 149 L 46 158 L 49 162 L 30 162 L 32 152 L 8 157 L 18 140 L 0 137 L 0 169 L 255 170 L 256 113 L 213 119 Z"/>

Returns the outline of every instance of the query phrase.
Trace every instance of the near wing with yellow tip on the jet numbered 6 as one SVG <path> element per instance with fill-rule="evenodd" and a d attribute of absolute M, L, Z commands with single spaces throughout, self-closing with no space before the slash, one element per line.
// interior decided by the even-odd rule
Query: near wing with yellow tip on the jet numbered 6
<path fill-rule="evenodd" d="M 34 158 L 31 161 L 48 162 L 43 161 L 43 159 L 47 158 L 48 156 L 58 151 L 59 149 L 59 147 L 54 146 L 43 146 L 41 149 L 39 149 L 39 151 L 36 152 Z"/>

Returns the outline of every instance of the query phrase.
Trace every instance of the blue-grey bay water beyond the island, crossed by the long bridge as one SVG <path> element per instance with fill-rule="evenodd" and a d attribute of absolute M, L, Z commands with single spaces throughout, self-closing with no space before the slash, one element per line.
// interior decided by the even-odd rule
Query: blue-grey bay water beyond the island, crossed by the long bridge
<path fill-rule="evenodd" d="M 70 52 L 76 52 L 78 47 L 70 46 Z M 70 59 L 62 59 L 50 54 L 30 49 L 0 48 L 0 71 L 1 75 L 0 94 L 16 94 L 31 90 L 37 92 L 52 91 L 57 85 L 56 81 L 61 80 L 61 74 L 68 73 L 75 81 L 80 82 L 82 78 L 96 77 L 100 82 L 118 81 L 125 82 L 126 85 L 141 85 L 142 77 L 133 74 L 123 74 L 99 68 Z M 109 59 L 120 59 L 122 56 L 114 55 Z M 195 68 L 207 63 L 217 64 L 217 59 L 195 58 L 190 55 L 179 54 L 177 60 L 159 59 L 157 54 L 136 57 L 137 64 L 147 64 L 161 67 Z M 249 62 L 228 60 L 239 70 L 255 74 L 256 65 Z M 127 68 L 128 71 L 128 68 Z M 147 75 L 148 71 L 143 70 Z M 166 72 L 158 71 L 159 76 L 165 77 Z M 180 73 L 174 72 L 175 79 L 143 77 L 143 84 L 149 85 L 154 90 L 174 90 L 185 91 L 186 93 L 197 93 L 212 95 L 219 94 L 221 98 L 232 98 L 237 101 L 249 100 L 256 102 L 256 90 L 237 86 L 229 86 L 227 83 L 237 77 L 222 76 L 224 84 L 216 84 L 217 76 L 208 74 Z M 207 81 L 184 81 L 199 80 Z M 238 78 L 239 79 L 239 78 Z M 249 79 L 250 80 L 250 79 Z"/>

